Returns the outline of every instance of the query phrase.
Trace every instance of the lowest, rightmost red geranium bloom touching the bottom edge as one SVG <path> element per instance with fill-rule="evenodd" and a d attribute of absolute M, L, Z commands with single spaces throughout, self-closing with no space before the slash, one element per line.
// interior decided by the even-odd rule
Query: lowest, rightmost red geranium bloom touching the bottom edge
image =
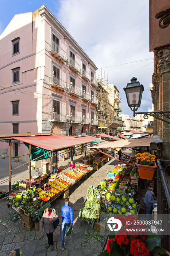
<path fill-rule="evenodd" d="M 150 256 L 150 251 L 146 248 L 144 242 L 139 239 L 131 241 L 130 253 L 134 256 Z"/>

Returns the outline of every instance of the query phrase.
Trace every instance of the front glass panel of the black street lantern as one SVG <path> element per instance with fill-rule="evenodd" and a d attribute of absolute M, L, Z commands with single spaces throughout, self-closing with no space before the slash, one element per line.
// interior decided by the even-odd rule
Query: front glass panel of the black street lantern
<path fill-rule="evenodd" d="M 127 99 L 129 105 L 138 105 L 140 104 L 140 87 L 131 87 L 126 89 Z"/>

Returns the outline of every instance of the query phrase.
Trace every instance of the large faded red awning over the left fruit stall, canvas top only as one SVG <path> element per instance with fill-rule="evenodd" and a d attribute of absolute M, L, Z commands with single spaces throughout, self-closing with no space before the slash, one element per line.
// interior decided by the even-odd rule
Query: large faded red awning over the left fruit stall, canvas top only
<path fill-rule="evenodd" d="M 46 150 L 58 150 L 95 141 L 92 136 L 73 138 L 65 135 L 11 137 Z"/>

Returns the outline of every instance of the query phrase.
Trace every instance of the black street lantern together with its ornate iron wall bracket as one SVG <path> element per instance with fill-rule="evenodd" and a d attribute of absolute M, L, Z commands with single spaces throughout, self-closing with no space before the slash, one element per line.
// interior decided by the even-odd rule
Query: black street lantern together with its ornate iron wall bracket
<path fill-rule="evenodd" d="M 140 82 L 137 82 L 137 78 L 133 77 L 131 79 L 131 83 L 128 83 L 123 90 L 126 93 L 127 103 L 130 109 L 135 114 L 144 114 L 143 118 L 148 119 L 148 116 L 155 117 L 156 119 L 159 119 L 167 124 L 170 124 L 169 121 L 162 119 L 161 117 L 166 117 L 167 119 L 170 119 L 170 111 L 154 111 L 154 112 L 138 112 L 135 113 L 136 110 L 140 107 L 141 99 L 142 99 L 142 93 L 144 91 L 144 87 Z M 150 90 L 153 90 L 153 84 L 150 84 Z M 132 109 L 133 108 L 133 109 Z"/>

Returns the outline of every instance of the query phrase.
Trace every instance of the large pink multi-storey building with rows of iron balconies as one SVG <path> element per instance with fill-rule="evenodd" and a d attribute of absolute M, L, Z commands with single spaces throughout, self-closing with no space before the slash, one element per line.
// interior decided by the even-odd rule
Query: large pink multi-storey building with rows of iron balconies
<path fill-rule="evenodd" d="M 96 70 L 45 5 L 15 15 L 0 35 L 0 133 L 92 135 Z M 8 147 L 0 142 L 0 154 Z M 13 141 L 13 156 L 26 153 Z"/>

